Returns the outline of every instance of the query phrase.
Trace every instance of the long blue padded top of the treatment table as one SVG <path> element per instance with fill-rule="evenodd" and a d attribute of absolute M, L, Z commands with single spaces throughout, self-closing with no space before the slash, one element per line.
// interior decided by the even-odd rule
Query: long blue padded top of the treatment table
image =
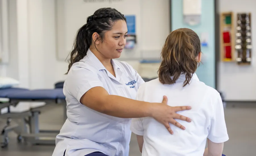
<path fill-rule="evenodd" d="M 22 92 L 15 92 L 8 94 L 9 99 L 28 99 L 28 100 L 42 100 L 42 99 L 57 99 L 58 96 L 63 94 L 62 88 L 57 89 L 37 89 Z"/>

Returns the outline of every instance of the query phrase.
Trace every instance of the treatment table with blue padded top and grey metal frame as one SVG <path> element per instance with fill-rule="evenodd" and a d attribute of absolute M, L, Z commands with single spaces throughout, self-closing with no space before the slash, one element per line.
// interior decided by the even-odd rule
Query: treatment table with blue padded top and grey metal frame
<path fill-rule="evenodd" d="M 67 119 L 63 88 L 37 90 L 22 88 L 0 89 L 0 98 L 9 99 L 8 102 L 0 102 L 0 109 L 16 106 L 19 102 L 45 102 L 46 105 L 61 103 L 64 107 L 64 120 Z M 7 134 L 10 131 L 14 131 L 18 134 L 17 139 L 19 142 L 23 139 L 32 144 L 55 144 L 55 137 L 59 131 L 40 131 L 38 121 L 39 114 L 40 111 L 36 109 L 21 113 L 11 113 L 10 110 L 5 114 L 0 113 L 1 119 L 7 119 L 7 123 L 1 132 L 1 147 L 8 145 Z M 11 124 L 12 119 L 18 120 L 16 124 Z"/>

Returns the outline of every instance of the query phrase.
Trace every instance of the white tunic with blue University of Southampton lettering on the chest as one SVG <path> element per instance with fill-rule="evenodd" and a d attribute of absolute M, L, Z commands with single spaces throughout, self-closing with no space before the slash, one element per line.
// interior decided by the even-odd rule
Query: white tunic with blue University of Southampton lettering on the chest
<path fill-rule="evenodd" d="M 83 104 L 80 98 L 93 87 L 104 87 L 111 95 L 135 99 L 144 83 L 127 63 L 112 60 L 114 77 L 88 50 L 67 74 L 63 93 L 67 101 L 67 120 L 56 137 L 53 156 L 84 156 L 100 151 L 110 156 L 128 156 L 131 119 L 108 116 Z M 100 97 L 100 94 L 98 95 Z"/>

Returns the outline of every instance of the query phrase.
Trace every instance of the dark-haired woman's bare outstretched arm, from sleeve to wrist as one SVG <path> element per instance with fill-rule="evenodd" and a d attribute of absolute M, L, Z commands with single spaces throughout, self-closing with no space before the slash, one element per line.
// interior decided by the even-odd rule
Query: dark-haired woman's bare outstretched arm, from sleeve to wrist
<path fill-rule="evenodd" d="M 139 118 L 152 116 L 153 103 L 133 100 L 117 95 L 109 95 L 102 87 L 87 91 L 80 102 L 97 112 L 120 118 Z"/>

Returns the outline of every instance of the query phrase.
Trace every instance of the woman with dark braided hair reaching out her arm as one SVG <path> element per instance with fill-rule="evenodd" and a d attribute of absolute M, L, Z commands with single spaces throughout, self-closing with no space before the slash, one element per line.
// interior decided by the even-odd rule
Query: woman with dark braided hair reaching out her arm
<path fill-rule="evenodd" d="M 135 100 L 144 81 L 130 65 L 115 60 L 126 37 L 126 18 L 113 8 L 96 10 L 78 30 L 63 87 L 67 120 L 53 156 L 128 156 L 131 118 L 152 117 L 171 134 L 169 124 L 185 129 L 175 119 L 191 122 L 176 114 L 189 106 L 168 106 L 166 97 L 162 103 Z"/>

